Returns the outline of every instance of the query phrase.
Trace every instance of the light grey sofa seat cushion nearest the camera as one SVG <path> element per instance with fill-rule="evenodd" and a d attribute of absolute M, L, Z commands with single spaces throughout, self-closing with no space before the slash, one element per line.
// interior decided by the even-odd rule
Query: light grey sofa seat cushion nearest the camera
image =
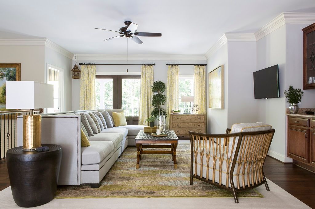
<path fill-rule="evenodd" d="M 100 163 L 114 150 L 112 141 L 90 141 L 90 146 L 81 148 L 82 165 Z"/>

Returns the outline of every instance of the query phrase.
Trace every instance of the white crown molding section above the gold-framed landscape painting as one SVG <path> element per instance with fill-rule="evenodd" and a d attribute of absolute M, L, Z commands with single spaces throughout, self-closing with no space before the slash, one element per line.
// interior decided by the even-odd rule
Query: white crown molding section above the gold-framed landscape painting
<path fill-rule="evenodd" d="M 0 46 L 43 46 L 46 38 L 0 38 Z"/>

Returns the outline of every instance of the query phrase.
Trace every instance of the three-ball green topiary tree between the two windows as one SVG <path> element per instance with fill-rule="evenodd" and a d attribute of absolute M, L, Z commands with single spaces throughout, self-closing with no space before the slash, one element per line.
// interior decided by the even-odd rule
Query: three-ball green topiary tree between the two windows
<path fill-rule="evenodd" d="M 158 109 L 161 108 L 161 105 L 164 105 L 166 102 L 166 97 L 164 96 L 165 83 L 163 81 L 156 81 L 152 84 L 152 92 L 154 93 L 152 97 L 153 110 L 151 116 L 158 115 Z M 166 111 L 163 110 L 163 115 L 166 117 Z"/>

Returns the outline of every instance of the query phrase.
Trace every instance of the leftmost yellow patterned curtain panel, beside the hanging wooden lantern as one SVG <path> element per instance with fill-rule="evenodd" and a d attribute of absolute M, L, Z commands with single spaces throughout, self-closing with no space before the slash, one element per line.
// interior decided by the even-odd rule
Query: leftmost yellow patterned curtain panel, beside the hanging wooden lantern
<path fill-rule="evenodd" d="M 95 65 L 82 65 L 80 79 L 80 110 L 95 109 Z"/>

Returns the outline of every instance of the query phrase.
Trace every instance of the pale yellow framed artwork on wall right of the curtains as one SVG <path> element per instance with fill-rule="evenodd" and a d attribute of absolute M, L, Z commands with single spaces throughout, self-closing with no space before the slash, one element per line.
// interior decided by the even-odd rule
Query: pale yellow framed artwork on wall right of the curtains
<path fill-rule="evenodd" d="M 224 65 L 209 72 L 209 108 L 224 109 Z"/>

